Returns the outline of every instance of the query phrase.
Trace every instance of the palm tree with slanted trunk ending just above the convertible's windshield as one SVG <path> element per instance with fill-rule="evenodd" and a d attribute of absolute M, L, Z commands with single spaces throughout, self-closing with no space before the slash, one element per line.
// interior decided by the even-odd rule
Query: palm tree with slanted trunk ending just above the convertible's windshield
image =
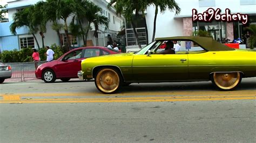
<path fill-rule="evenodd" d="M 131 23 L 139 48 L 142 48 L 142 46 L 140 45 L 138 33 L 136 31 L 133 12 L 135 12 L 135 16 L 139 16 L 140 13 L 144 15 L 144 11 L 147 8 L 146 2 L 147 1 L 145 0 L 111 0 L 109 4 L 109 7 L 113 6 L 116 9 L 117 15 L 124 15 L 126 22 Z"/>

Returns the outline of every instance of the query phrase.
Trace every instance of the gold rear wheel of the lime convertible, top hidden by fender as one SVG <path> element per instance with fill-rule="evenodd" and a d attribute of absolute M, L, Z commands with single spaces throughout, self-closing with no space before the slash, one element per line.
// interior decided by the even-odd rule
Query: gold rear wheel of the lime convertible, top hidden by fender
<path fill-rule="evenodd" d="M 239 83 L 240 73 L 214 73 L 213 80 L 221 89 L 232 89 Z"/>

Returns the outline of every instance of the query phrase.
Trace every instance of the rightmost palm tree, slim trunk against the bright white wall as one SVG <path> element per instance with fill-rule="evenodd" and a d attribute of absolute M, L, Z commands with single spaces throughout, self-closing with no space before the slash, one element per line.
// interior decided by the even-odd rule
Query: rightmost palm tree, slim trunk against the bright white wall
<path fill-rule="evenodd" d="M 148 0 L 147 5 L 153 4 L 155 6 L 154 11 L 154 27 L 153 27 L 153 35 L 152 35 L 152 41 L 154 41 L 154 36 L 156 34 L 156 23 L 157 23 L 157 14 L 158 14 L 158 8 L 160 9 L 160 12 L 166 11 L 166 9 L 169 9 L 171 11 L 176 11 L 176 14 L 180 13 L 179 5 L 174 0 Z"/>

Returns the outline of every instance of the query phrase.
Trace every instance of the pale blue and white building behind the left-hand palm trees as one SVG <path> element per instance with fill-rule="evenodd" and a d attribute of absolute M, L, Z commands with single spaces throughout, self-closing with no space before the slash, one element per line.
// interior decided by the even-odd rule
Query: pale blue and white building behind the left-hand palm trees
<path fill-rule="evenodd" d="M 92 46 L 92 45 L 105 46 L 107 42 L 107 37 L 108 36 L 115 37 L 118 31 L 120 31 L 124 22 L 124 18 L 117 16 L 116 11 L 113 8 L 108 9 L 107 8 L 108 3 L 105 0 L 91 0 L 91 1 L 96 5 L 98 5 L 100 8 L 102 8 L 102 15 L 109 18 L 109 28 L 105 30 L 104 26 L 100 26 L 98 31 L 98 39 L 96 39 L 93 36 L 94 26 L 91 25 L 92 30 L 89 32 L 89 35 L 87 37 L 87 43 L 88 43 L 87 46 Z M 28 45 L 28 46 L 38 48 L 35 39 L 31 34 L 29 34 L 27 27 L 24 26 L 23 28 L 19 28 L 18 30 L 16 30 L 17 34 L 13 35 L 10 32 L 9 26 L 13 21 L 12 16 L 14 15 L 14 13 L 39 2 L 39 0 L 26 0 L 26 1 L 25 0 L 6 0 L 6 2 L 8 3 L 8 7 L 5 9 L 8 10 L 9 22 L 0 23 L 1 51 L 21 49 L 23 48 L 24 43 L 25 43 L 25 46 Z M 60 22 L 64 23 L 63 20 L 60 20 Z M 71 22 L 71 17 L 69 17 L 68 19 L 68 24 L 70 22 Z M 44 45 L 49 45 L 49 46 L 52 44 L 59 45 L 57 33 L 54 30 L 52 30 L 51 25 L 52 23 L 50 22 L 48 22 L 46 25 L 47 31 L 46 33 L 44 33 L 44 36 L 45 36 Z M 64 30 L 60 31 L 60 33 L 62 34 L 62 40 L 60 42 L 63 42 L 63 44 L 65 44 L 66 38 L 65 38 Z M 36 38 L 38 40 L 39 46 L 42 47 L 42 37 L 39 34 L 39 32 L 36 34 Z M 83 45 L 82 38 L 77 37 L 75 38 L 75 40 L 73 38 L 71 39 L 72 39 L 71 42 L 72 44 L 75 44 L 74 45 L 75 47 L 80 47 Z M 75 41 L 75 43 L 73 43 L 73 41 Z"/>

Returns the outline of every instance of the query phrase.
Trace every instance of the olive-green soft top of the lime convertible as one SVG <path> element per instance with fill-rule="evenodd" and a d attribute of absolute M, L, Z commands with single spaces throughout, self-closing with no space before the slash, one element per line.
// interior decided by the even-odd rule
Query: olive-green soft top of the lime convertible
<path fill-rule="evenodd" d="M 227 47 L 220 42 L 215 41 L 213 38 L 209 37 L 199 37 L 199 36 L 178 36 L 178 37 L 165 37 L 165 38 L 156 38 L 156 41 L 163 40 L 177 40 L 185 41 L 191 40 L 196 42 L 198 45 L 206 49 L 207 51 L 233 51 L 234 48 Z"/>

